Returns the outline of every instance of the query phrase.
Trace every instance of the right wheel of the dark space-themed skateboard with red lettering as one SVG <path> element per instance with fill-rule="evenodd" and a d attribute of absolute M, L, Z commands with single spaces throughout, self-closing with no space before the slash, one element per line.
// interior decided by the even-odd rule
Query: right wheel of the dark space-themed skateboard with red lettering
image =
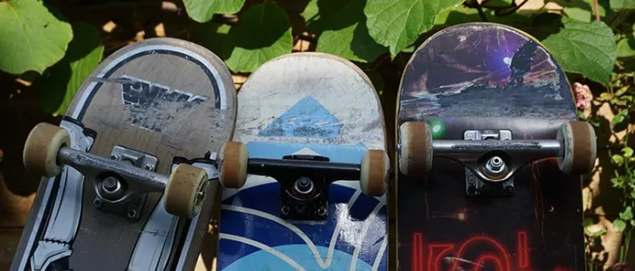
<path fill-rule="evenodd" d="M 565 174 L 591 173 L 597 156 L 595 131 L 586 121 L 562 123 L 558 140 L 564 141 L 564 156 L 558 158 L 558 167 Z"/>

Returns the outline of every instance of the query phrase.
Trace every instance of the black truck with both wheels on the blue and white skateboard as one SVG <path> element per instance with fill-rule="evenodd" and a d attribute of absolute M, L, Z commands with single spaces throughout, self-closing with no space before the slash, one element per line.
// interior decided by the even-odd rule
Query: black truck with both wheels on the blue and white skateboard
<path fill-rule="evenodd" d="M 241 188 L 247 174 L 269 176 L 280 184 L 280 217 L 289 220 L 323 220 L 328 217 L 328 186 L 336 180 L 359 181 L 362 192 L 386 192 L 390 167 L 384 150 L 368 150 L 361 163 L 331 162 L 316 155 L 287 155 L 282 159 L 249 159 L 241 142 L 228 142 L 219 154 L 219 179 L 223 187 Z"/>

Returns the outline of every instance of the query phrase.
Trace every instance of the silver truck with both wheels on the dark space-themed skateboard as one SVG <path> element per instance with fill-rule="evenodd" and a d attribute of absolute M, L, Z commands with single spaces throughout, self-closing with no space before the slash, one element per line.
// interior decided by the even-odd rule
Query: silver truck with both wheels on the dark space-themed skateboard
<path fill-rule="evenodd" d="M 486 186 L 500 186 L 513 195 L 513 174 L 532 160 L 555 157 L 565 174 L 591 172 L 596 157 L 595 131 L 585 121 L 561 125 L 554 140 L 513 140 L 508 130 L 464 131 L 464 140 L 433 140 L 425 122 L 408 121 L 400 128 L 399 170 L 425 177 L 433 157 L 465 165 L 465 192 L 479 195 Z"/>

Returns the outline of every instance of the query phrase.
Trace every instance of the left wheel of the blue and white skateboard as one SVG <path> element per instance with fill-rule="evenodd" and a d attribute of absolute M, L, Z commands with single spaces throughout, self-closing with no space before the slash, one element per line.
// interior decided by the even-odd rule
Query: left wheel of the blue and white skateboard
<path fill-rule="evenodd" d="M 220 184 L 225 188 L 239 189 L 247 180 L 247 146 L 242 142 L 230 141 L 223 145 L 219 153 Z"/>

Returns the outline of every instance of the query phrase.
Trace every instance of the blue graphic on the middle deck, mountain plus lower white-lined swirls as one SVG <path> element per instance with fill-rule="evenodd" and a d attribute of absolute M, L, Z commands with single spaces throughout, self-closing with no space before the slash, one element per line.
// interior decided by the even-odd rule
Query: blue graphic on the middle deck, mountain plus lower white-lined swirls
<path fill-rule="evenodd" d="M 306 96 L 262 130 L 251 131 L 258 140 L 246 142 L 249 157 L 311 154 L 359 163 L 367 147 L 361 141 L 340 143 L 349 138 L 340 134 L 343 126 L 317 99 Z M 275 179 L 249 175 L 243 188 L 223 189 L 219 269 L 386 270 L 385 197 L 364 195 L 357 181 L 336 181 L 328 191 L 326 221 L 288 223 L 278 218 L 280 190 Z"/>

